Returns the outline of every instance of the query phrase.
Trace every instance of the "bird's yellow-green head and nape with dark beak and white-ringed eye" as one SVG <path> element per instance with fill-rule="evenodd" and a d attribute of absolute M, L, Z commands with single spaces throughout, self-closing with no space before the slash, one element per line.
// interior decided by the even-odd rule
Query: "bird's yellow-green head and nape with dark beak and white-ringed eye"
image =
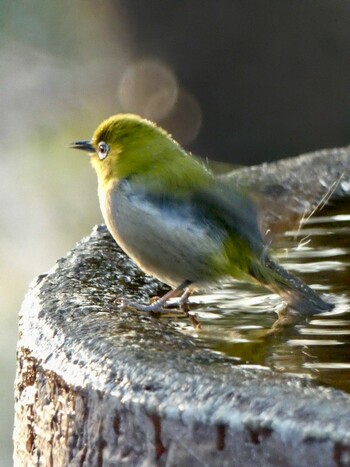
<path fill-rule="evenodd" d="M 114 115 L 97 127 L 90 141 L 71 147 L 91 154 L 102 185 L 134 176 L 144 177 L 154 189 L 161 184 L 174 191 L 185 189 L 191 181 L 201 183 L 209 175 L 166 131 L 137 115 Z M 183 186 L 174 186 L 175 180 Z"/>

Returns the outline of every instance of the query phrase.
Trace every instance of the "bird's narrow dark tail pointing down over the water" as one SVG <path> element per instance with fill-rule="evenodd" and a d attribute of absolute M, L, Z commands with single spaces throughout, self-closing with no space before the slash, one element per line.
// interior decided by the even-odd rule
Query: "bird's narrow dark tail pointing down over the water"
<path fill-rule="evenodd" d="M 288 305 L 302 314 L 323 313 L 334 308 L 325 302 L 302 280 L 287 272 L 267 255 L 252 262 L 251 275 L 273 292 L 280 295 Z"/>

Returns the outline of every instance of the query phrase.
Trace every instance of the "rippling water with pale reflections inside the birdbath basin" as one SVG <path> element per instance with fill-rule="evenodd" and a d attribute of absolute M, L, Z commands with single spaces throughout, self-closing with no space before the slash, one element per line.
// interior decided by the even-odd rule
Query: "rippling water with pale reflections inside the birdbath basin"
<path fill-rule="evenodd" d="M 350 205 L 336 205 L 278 241 L 273 256 L 335 303 L 330 313 L 278 317 L 281 300 L 260 287 L 230 283 L 192 299 L 201 323 L 184 332 L 202 345 L 258 365 L 350 392 Z"/>

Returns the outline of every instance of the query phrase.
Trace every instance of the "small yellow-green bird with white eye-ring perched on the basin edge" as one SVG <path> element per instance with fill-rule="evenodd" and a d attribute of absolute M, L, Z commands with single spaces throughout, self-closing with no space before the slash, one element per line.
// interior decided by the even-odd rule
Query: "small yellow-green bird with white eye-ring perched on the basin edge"
<path fill-rule="evenodd" d="M 258 282 L 300 313 L 329 311 L 300 279 L 268 256 L 252 202 L 220 183 L 154 123 L 131 114 L 102 122 L 91 141 L 72 143 L 91 156 L 101 211 L 120 247 L 173 290 L 143 311 L 163 311 L 183 293 L 229 277 Z"/>

